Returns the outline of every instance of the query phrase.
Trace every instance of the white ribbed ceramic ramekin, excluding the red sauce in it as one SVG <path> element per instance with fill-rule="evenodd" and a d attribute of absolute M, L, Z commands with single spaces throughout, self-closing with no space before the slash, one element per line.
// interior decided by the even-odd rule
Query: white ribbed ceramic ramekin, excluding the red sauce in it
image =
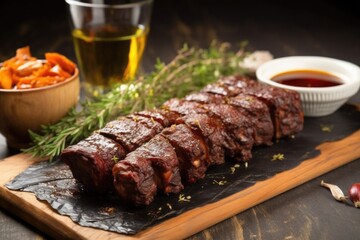
<path fill-rule="evenodd" d="M 271 80 L 279 73 L 296 70 L 323 71 L 335 75 L 342 84 L 332 87 L 296 87 Z M 300 93 L 305 116 L 318 117 L 334 113 L 360 87 L 360 68 L 350 62 L 317 56 L 283 57 L 262 64 L 256 71 L 260 82 Z"/>

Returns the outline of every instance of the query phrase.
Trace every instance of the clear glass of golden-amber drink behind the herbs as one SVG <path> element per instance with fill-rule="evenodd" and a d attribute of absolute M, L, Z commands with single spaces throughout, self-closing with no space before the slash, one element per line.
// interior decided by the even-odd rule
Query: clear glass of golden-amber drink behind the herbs
<path fill-rule="evenodd" d="M 85 96 L 134 79 L 153 0 L 66 0 Z"/>

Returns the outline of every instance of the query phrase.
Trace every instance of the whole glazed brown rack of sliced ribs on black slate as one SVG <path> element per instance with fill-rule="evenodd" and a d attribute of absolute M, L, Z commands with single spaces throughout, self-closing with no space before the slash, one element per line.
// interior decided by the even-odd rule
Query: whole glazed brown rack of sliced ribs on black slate
<path fill-rule="evenodd" d="M 86 189 L 115 190 L 124 202 L 148 205 L 225 159 L 248 161 L 254 146 L 292 136 L 303 122 L 297 92 L 230 76 L 159 109 L 111 121 L 60 158 Z"/>

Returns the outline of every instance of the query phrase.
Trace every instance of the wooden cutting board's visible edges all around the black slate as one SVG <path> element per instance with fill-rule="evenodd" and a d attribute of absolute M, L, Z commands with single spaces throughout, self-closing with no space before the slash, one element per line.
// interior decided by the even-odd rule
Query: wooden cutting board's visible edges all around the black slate
<path fill-rule="evenodd" d="M 203 207 L 195 208 L 134 236 L 82 227 L 69 217 L 59 215 L 46 202 L 36 199 L 32 193 L 10 191 L 4 184 L 9 182 L 31 164 L 41 159 L 18 154 L 0 160 L 0 203 L 56 238 L 72 239 L 180 239 L 191 236 L 220 221 L 236 215 L 289 189 L 316 178 L 360 157 L 360 130 L 336 142 L 317 147 L 321 154 L 303 161 L 291 170 L 281 172 L 267 180 Z M 189 223 L 193 224 L 189 224 Z M 196 224 L 194 224 L 196 223 Z"/>

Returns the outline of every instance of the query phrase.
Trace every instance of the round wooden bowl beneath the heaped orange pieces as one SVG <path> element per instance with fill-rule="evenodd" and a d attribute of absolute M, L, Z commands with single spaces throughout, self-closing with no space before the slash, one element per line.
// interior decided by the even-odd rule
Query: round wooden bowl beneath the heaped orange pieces
<path fill-rule="evenodd" d="M 79 70 L 69 79 L 46 87 L 0 89 L 0 133 L 8 147 L 28 147 L 28 130 L 38 132 L 41 125 L 59 121 L 74 107 L 80 96 Z"/>

